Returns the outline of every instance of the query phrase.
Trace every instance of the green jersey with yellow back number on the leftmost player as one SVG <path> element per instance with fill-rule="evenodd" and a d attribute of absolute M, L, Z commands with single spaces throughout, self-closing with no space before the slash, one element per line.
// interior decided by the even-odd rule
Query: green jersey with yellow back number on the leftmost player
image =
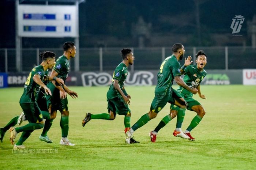
<path fill-rule="evenodd" d="M 23 94 L 20 98 L 20 103 L 33 103 L 35 102 L 35 98 L 40 90 L 40 86 L 34 82 L 34 75 L 39 75 L 40 79 L 43 80 L 45 71 L 42 65 L 38 65 L 33 68 L 29 73 L 29 77 L 27 78 L 24 86 Z"/>

